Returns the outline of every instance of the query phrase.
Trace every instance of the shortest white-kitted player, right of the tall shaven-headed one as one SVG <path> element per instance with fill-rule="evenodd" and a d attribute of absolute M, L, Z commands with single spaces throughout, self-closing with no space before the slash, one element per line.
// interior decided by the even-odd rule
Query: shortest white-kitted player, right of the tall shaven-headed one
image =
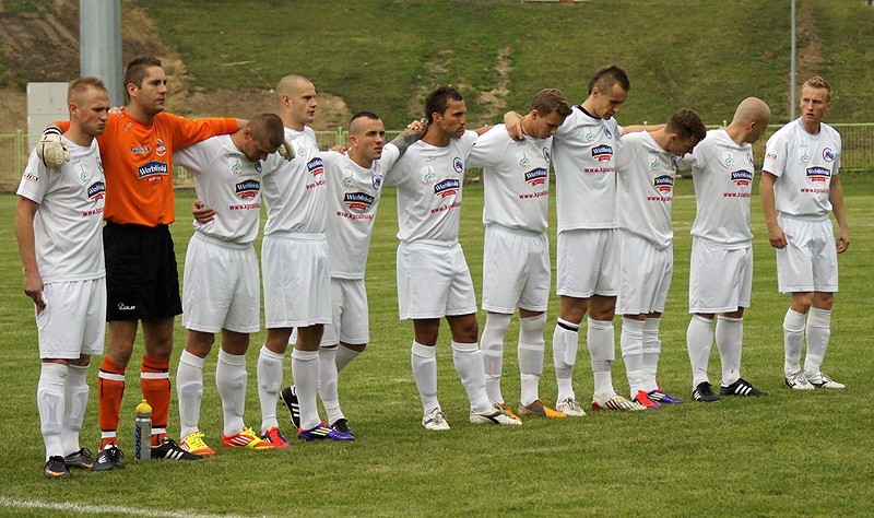
<path fill-rule="evenodd" d="M 345 154 L 321 153 L 328 184 L 326 235 L 331 257 L 333 313 L 319 348 L 319 396 L 328 425 L 354 435 L 340 409 L 338 375 L 364 352 L 370 340 L 364 273 L 382 183 L 394 162 L 422 136 L 423 127 L 418 121 L 411 122 L 387 144 L 386 128 L 379 116 L 361 111 L 352 117 L 349 132 L 351 146 Z M 281 396 L 292 414 L 292 423 L 299 426 L 296 390 L 294 386 L 286 387 Z"/>

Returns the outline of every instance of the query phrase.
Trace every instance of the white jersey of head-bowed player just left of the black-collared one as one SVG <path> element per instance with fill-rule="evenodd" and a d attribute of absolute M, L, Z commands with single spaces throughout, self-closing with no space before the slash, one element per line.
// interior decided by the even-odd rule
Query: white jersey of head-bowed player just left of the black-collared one
<path fill-rule="evenodd" d="M 466 167 L 484 169 L 483 223 L 536 233 L 546 229 L 552 142 L 552 137 L 517 142 L 504 125 L 476 140 Z"/>

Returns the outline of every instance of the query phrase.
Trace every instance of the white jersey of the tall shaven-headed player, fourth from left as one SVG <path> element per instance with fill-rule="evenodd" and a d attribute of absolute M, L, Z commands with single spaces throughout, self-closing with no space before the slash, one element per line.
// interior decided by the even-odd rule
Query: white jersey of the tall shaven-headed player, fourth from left
<path fill-rule="evenodd" d="M 263 164 L 264 235 L 323 234 L 328 188 L 316 132 L 308 127 L 304 131 L 285 128 L 285 137 L 294 148 L 294 160 L 288 162 L 273 153 Z"/>

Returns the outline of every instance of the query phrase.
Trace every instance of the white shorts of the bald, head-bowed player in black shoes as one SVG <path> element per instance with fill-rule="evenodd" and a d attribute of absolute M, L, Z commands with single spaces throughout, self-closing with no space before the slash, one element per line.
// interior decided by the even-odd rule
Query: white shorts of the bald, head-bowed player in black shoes
<path fill-rule="evenodd" d="M 749 307 L 753 246 L 727 249 L 692 238 L 689 313 L 731 313 Z"/>

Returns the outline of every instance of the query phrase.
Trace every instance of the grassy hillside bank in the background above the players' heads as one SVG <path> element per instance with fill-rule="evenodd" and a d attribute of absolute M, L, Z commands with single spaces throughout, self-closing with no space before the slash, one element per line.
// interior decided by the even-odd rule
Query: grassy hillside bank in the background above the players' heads
<path fill-rule="evenodd" d="M 343 97 L 353 113 L 380 114 L 387 127 L 420 115 L 420 89 L 459 85 L 471 120 L 485 118 L 481 94 L 504 78 L 507 107 L 524 109 L 540 89 L 582 101 L 592 72 L 618 63 L 631 95 L 619 119 L 663 121 L 681 107 L 708 123 L 731 119 L 756 95 L 789 118 L 790 2 L 592 0 L 577 4 L 518 0 L 140 1 L 178 49 L 197 85 L 271 89 L 297 72 Z M 834 121 L 866 122 L 874 103 L 874 9 L 863 0 L 799 0 L 802 57 L 835 87 Z M 197 23 L 192 23 L 197 20 Z M 806 59 L 806 58 L 805 58 Z M 807 62 L 807 61 L 804 61 Z M 233 64 L 228 64 L 233 63 Z M 808 73 L 808 72 L 804 72 Z M 806 76 L 800 76 L 803 82 Z M 799 92 L 800 95 L 800 92 Z M 412 108 L 410 108 L 412 106 Z M 411 111 L 412 109 L 412 111 Z M 497 111 L 503 114 L 504 109 Z"/>

